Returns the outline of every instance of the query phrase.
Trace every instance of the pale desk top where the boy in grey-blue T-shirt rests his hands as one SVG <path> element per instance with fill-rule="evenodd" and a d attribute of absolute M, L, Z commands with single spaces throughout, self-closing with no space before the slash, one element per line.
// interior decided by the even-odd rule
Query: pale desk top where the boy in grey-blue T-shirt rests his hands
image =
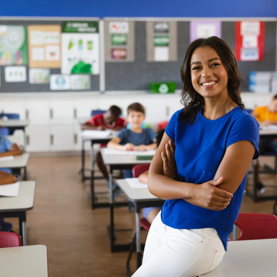
<path fill-rule="evenodd" d="M 136 156 L 131 155 L 105 155 L 104 148 L 100 149 L 105 165 L 123 165 L 123 164 L 144 164 L 151 163 L 152 160 L 136 160 Z"/>

